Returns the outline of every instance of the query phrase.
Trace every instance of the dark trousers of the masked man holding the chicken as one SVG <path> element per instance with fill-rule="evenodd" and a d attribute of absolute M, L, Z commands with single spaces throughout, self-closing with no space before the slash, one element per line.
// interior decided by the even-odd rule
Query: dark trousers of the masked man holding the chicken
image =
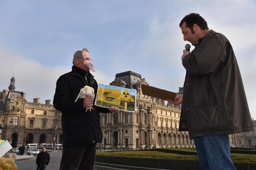
<path fill-rule="evenodd" d="M 94 170 L 96 144 L 64 147 L 60 170 Z"/>

